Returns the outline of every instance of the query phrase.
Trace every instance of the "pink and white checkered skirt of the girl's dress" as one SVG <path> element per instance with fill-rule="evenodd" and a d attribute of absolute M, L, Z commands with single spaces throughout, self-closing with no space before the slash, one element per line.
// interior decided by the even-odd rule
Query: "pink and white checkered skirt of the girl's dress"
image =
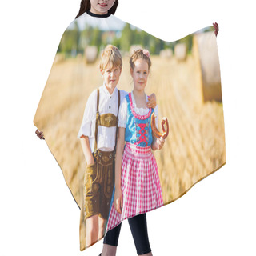
<path fill-rule="evenodd" d="M 151 147 L 126 142 L 122 156 L 122 214 L 111 206 L 107 229 L 118 226 L 126 218 L 134 217 L 163 206 L 158 166 Z"/>

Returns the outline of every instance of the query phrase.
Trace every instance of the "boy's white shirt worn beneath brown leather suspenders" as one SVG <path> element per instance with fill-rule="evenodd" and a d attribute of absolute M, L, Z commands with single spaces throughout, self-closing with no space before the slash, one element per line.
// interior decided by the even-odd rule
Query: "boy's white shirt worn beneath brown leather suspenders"
<path fill-rule="evenodd" d="M 120 90 L 120 102 L 128 94 L 124 90 Z M 95 122 L 96 122 L 96 111 L 97 111 L 97 89 L 94 90 L 87 102 L 86 109 L 82 118 L 82 124 L 78 132 L 78 138 L 82 135 L 88 136 L 90 142 L 90 150 L 94 152 L 94 134 L 95 134 Z M 118 88 L 114 88 L 112 94 L 106 89 L 105 85 L 99 87 L 99 103 L 98 103 L 99 114 L 118 114 Z M 116 126 L 105 127 L 98 126 L 98 140 L 97 149 L 102 151 L 112 151 L 115 145 Z"/>

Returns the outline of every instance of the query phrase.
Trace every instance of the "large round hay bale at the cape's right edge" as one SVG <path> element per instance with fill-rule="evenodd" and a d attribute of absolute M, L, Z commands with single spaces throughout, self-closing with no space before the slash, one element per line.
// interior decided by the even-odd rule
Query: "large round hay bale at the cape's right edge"
<path fill-rule="evenodd" d="M 218 49 L 213 31 L 194 35 L 193 54 L 201 74 L 203 102 L 211 100 L 222 102 Z"/>

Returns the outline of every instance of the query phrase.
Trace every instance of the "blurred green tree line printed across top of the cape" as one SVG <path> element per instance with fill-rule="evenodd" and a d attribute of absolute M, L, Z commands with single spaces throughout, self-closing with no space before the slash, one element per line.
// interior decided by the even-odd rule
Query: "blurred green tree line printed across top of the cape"
<path fill-rule="evenodd" d="M 166 42 L 143 30 L 132 28 L 128 23 L 121 31 L 105 31 L 93 26 L 86 26 L 84 30 L 79 30 L 78 23 L 75 21 L 74 27 L 67 29 L 62 35 L 58 53 L 65 54 L 66 57 L 75 57 L 77 54 L 83 54 L 86 46 L 97 46 L 99 52 L 107 44 L 112 44 L 122 52 L 129 52 L 132 45 L 141 45 L 143 48 L 150 50 L 150 54 L 159 54 L 164 49 L 174 50 L 174 46 L 178 42 L 185 43 L 190 54 L 193 34 L 176 42 Z"/>

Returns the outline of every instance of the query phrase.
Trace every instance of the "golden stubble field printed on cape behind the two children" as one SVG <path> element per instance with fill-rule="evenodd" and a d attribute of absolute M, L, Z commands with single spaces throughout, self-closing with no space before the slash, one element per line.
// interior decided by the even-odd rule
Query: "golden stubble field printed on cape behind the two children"
<path fill-rule="evenodd" d="M 170 123 L 165 146 L 154 152 L 166 204 L 226 162 L 223 111 L 222 103 L 202 102 L 193 56 L 184 62 L 159 56 L 151 60 L 146 94 L 156 94 L 159 118 L 165 116 Z M 118 88 L 131 91 L 128 63 L 124 57 Z M 86 162 L 77 134 L 86 100 L 101 85 L 98 62 L 87 65 L 82 56 L 55 62 L 34 118 L 80 207 Z"/>

